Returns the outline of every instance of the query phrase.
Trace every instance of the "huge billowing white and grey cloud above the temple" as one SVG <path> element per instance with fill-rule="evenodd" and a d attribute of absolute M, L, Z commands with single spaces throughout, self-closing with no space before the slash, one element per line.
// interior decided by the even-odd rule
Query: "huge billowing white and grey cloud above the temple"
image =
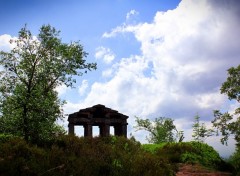
<path fill-rule="evenodd" d="M 123 23 L 104 33 L 113 40 L 132 33 L 141 55 L 122 58 L 106 70 L 103 76 L 111 73 L 111 79 L 95 82 L 80 107 L 102 103 L 117 109 L 130 116 L 130 132 L 135 115 L 171 117 L 190 130 L 192 124 L 185 122 L 196 113 L 210 121 L 214 109 L 229 108 L 219 88 L 226 70 L 239 64 L 240 6 L 218 2 L 183 0 L 176 9 L 157 12 L 150 23 Z M 102 57 L 104 50 L 96 56 Z"/>

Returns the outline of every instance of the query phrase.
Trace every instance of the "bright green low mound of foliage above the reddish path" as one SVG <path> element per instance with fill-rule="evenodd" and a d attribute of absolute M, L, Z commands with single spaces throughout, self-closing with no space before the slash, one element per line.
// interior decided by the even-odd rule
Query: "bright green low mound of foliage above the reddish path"
<path fill-rule="evenodd" d="M 174 163 L 201 164 L 212 169 L 231 171 L 231 167 L 221 159 L 219 154 L 211 146 L 204 143 L 193 141 L 148 144 L 144 145 L 143 148 L 165 158 L 172 165 Z"/>

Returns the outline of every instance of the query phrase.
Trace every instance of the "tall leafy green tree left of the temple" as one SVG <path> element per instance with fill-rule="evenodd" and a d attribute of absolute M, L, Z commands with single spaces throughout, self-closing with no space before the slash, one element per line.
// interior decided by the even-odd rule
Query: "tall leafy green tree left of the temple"
<path fill-rule="evenodd" d="M 43 25 L 37 37 L 26 25 L 15 47 L 0 52 L 0 132 L 23 136 L 26 141 L 52 135 L 56 120 L 63 117 L 55 88 L 73 87 L 74 76 L 96 69 L 86 63 L 87 53 L 79 42 L 63 43 L 60 31 Z"/>

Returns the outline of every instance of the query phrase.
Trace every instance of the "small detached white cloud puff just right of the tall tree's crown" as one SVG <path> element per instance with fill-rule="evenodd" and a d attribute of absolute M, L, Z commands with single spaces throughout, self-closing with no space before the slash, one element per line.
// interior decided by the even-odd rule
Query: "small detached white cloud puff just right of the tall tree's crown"
<path fill-rule="evenodd" d="M 115 55 L 109 48 L 101 46 L 96 49 L 95 58 L 102 59 L 106 64 L 110 64 L 115 59 Z"/>

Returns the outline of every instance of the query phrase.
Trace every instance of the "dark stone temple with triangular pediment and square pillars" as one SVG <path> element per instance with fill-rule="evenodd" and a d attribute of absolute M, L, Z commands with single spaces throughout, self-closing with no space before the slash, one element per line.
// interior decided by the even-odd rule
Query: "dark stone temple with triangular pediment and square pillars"
<path fill-rule="evenodd" d="M 115 136 L 127 137 L 127 119 L 128 116 L 98 104 L 70 114 L 68 133 L 74 134 L 74 126 L 80 125 L 84 127 L 84 136 L 92 137 L 92 127 L 99 126 L 99 135 L 104 137 L 110 135 L 110 126 L 113 126 Z"/>

